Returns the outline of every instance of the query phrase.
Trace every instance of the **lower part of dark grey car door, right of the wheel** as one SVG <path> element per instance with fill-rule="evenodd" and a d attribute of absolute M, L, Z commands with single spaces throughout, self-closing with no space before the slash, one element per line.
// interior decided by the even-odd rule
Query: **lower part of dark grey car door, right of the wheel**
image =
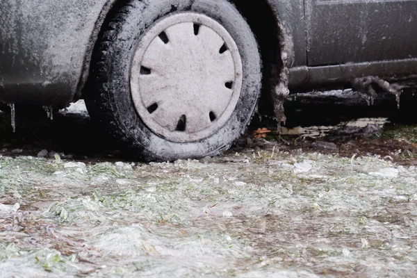
<path fill-rule="evenodd" d="M 417 58 L 417 0 L 306 0 L 309 67 Z"/>

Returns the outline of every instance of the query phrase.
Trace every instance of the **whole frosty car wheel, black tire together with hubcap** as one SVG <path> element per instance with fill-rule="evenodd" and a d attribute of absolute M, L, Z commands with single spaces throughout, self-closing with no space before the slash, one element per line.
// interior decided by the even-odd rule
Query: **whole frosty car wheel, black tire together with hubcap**
<path fill-rule="evenodd" d="M 195 37 L 202 41 L 198 45 L 191 42 L 190 23 Z M 166 37 L 174 39 L 167 44 Z M 180 55 L 174 57 L 179 60 L 172 60 L 174 55 L 165 54 L 166 50 L 161 52 L 161 40 L 174 49 L 172 53 Z M 221 40 L 222 49 L 214 55 L 213 47 L 220 48 Z M 194 56 L 193 51 L 197 53 Z M 191 58 L 183 57 L 184 53 Z M 165 74 L 163 81 L 156 75 L 154 81 L 146 81 L 154 74 L 142 66 L 148 60 L 158 68 L 157 74 Z M 168 73 L 161 73 L 165 70 Z M 216 87 L 232 74 L 234 80 L 223 84 L 231 92 Z M 244 133 L 259 99 L 261 78 L 254 34 L 229 1 L 128 1 L 109 15 L 99 35 L 85 102 L 93 120 L 104 124 L 117 142 L 131 150 L 129 154 L 146 161 L 202 158 L 224 152 Z M 167 86 L 172 91 L 166 90 Z M 190 86 L 193 90 L 188 89 Z M 152 116 L 155 107 L 149 108 L 145 102 L 156 96 L 164 97 L 163 104 L 158 116 Z M 213 105 L 222 107 L 215 108 L 219 115 L 208 113 Z M 204 115 L 200 115 L 202 111 Z M 188 113 L 190 131 L 184 117 Z M 182 116 L 177 119 L 178 115 Z M 179 120 L 174 130 L 172 118 Z"/>

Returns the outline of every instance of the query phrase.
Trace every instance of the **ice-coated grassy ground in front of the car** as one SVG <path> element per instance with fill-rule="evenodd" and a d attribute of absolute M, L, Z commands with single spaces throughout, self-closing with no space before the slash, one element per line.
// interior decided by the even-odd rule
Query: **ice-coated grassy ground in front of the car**
<path fill-rule="evenodd" d="M 0 158 L 0 276 L 416 277 L 416 184 L 376 157 Z"/>

